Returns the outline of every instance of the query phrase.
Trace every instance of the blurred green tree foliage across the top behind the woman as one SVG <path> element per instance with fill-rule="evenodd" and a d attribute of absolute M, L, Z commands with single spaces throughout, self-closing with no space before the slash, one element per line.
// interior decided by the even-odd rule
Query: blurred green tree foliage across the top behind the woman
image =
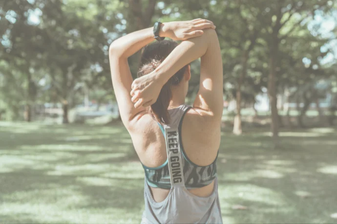
<path fill-rule="evenodd" d="M 239 86 L 243 101 L 267 87 L 275 45 L 277 93 L 295 91 L 336 75 L 337 26 L 322 28 L 326 20 L 335 18 L 337 24 L 336 12 L 331 0 L 6 1 L 0 8 L 0 99 L 6 105 L 1 107 L 15 111 L 37 102 L 75 105 L 86 89 L 97 99 L 113 99 L 109 44 L 158 19 L 200 17 L 215 23 L 227 99 L 236 96 Z M 129 60 L 134 75 L 138 60 L 139 55 Z M 198 61 L 191 71 L 189 97 L 198 90 Z M 13 89 L 17 91 L 10 93 Z"/>

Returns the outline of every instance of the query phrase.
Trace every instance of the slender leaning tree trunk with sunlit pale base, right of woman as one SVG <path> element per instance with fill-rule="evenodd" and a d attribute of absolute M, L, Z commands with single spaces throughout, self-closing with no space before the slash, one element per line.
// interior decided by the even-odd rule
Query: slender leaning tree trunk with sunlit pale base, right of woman
<path fill-rule="evenodd" d="M 234 117 L 234 127 L 233 133 L 236 135 L 242 134 L 242 120 L 241 120 L 241 86 L 243 84 L 243 80 L 247 73 L 247 62 L 248 62 L 248 51 L 244 51 L 241 60 L 242 71 L 239 75 L 239 79 L 237 81 L 237 88 L 236 88 L 236 115 Z"/>

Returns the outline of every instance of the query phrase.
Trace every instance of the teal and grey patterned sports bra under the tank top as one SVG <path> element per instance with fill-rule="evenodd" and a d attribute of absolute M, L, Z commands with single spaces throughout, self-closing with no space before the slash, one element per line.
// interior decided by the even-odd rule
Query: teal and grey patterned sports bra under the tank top
<path fill-rule="evenodd" d="M 190 159 L 186 155 L 182 144 L 181 126 L 184 115 L 186 114 L 186 112 L 188 112 L 190 108 L 191 108 L 190 106 L 181 105 L 177 108 L 169 110 L 170 123 L 169 125 L 167 125 L 170 128 L 178 128 L 178 135 L 179 135 L 178 141 L 180 145 L 180 153 L 182 158 L 181 161 L 184 174 L 183 176 L 185 180 L 185 187 L 187 189 L 205 187 L 211 184 L 211 182 L 216 177 L 216 160 L 218 157 L 217 154 L 215 160 L 208 166 L 198 166 L 194 164 L 192 161 L 190 161 Z M 158 125 L 166 139 L 165 127 L 163 127 L 159 123 Z M 156 168 L 149 168 L 144 164 L 142 164 L 142 166 L 145 170 L 147 184 L 150 187 L 158 187 L 164 189 L 171 188 L 168 160 L 166 160 L 166 162 L 163 165 Z"/>

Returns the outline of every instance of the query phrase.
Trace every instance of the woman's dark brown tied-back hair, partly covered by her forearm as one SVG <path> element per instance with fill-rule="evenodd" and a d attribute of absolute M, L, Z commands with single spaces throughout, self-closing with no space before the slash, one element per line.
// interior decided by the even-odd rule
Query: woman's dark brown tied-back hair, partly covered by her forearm
<path fill-rule="evenodd" d="M 173 40 L 162 40 L 148 44 L 142 50 L 141 62 L 138 70 L 138 77 L 147 75 L 154 71 L 164 59 L 169 56 L 178 43 Z M 171 86 L 178 85 L 184 77 L 188 65 L 180 69 L 174 74 L 163 86 L 159 93 L 157 101 L 150 107 L 147 112 L 151 114 L 153 119 L 161 124 L 169 123 L 169 102 L 172 98 Z"/>

